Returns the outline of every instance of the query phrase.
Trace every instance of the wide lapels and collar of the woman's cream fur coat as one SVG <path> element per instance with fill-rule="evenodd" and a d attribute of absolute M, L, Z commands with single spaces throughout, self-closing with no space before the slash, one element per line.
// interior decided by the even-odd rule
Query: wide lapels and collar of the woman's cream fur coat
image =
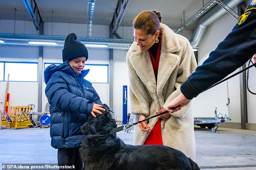
<path fill-rule="evenodd" d="M 160 24 L 160 26 L 163 37 L 157 82 L 155 81 L 155 75 L 148 50 L 144 52 L 140 51 L 134 42 L 131 46 L 133 53 L 130 56 L 130 62 L 136 71 L 136 74 L 145 84 L 150 95 L 155 100 L 162 98 L 162 90 L 173 70 L 180 62 L 180 54 L 178 54 L 178 51 L 180 51 L 180 44 L 177 35 L 166 25 Z"/>

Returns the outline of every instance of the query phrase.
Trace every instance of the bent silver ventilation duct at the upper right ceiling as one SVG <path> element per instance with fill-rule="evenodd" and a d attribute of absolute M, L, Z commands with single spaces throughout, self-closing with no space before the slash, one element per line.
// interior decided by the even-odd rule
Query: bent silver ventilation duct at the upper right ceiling
<path fill-rule="evenodd" d="M 223 0 L 222 2 L 229 6 L 229 8 L 234 8 L 235 6 L 241 4 L 243 1 L 244 0 Z M 214 6 L 212 10 L 207 12 L 204 16 L 202 16 L 199 19 L 195 31 L 191 39 L 189 40 L 193 48 L 199 45 L 201 39 L 204 36 L 206 28 L 226 12 L 227 11 L 224 8 L 220 6 Z"/>

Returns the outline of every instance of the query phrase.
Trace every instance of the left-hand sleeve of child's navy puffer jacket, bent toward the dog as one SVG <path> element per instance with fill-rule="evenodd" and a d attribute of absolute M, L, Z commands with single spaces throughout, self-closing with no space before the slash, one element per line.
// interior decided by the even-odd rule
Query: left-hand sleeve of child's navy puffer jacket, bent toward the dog
<path fill-rule="evenodd" d="M 54 104 L 59 109 L 83 114 L 90 114 L 92 111 L 93 102 L 69 92 L 67 83 L 57 72 L 50 77 L 45 94 L 49 104 Z M 99 98 L 96 94 L 95 101 Z"/>

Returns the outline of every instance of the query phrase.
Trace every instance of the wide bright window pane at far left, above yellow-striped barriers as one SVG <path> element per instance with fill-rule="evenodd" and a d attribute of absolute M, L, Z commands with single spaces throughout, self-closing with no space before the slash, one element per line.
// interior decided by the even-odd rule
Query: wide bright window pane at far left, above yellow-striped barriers
<path fill-rule="evenodd" d="M 37 63 L 4 63 L 4 81 L 22 81 L 37 82 L 38 81 L 38 64 Z"/>

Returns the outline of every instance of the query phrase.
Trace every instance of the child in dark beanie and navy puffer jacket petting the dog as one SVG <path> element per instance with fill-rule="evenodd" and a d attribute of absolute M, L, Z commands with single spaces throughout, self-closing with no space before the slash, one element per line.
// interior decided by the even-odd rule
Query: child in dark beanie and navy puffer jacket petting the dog
<path fill-rule="evenodd" d="M 63 63 L 50 65 L 44 71 L 45 94 L 50 104 L 51 145 L 58 149 L 58 164 L 83 168 L 79 147 L 83 138 L 80 127 L 87 117 L 105 111 L 92 84 L 84 79 L 88 59 L 86 46 L 75 33 L 67 35 L 62 50 Z M 64 168 L 65 169 L 65 168 Z"/>

